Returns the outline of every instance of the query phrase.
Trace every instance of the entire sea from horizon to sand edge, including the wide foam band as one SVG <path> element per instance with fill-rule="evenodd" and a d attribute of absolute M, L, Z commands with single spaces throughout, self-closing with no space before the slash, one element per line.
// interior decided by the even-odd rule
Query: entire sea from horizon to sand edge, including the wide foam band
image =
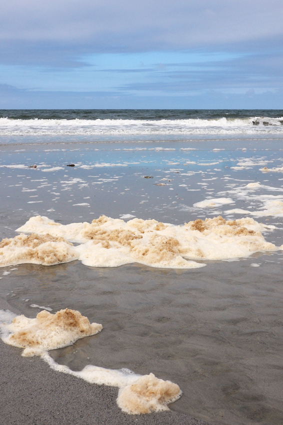
<path fill-rule="evenodd" d="M 281 423 L 282 140 L 283 110 L 1 110 L 1 238 L 53 245 L 0 245 L 0 297 L 103 325 L 57 365 L 152 372 L 211 423 Z"/>

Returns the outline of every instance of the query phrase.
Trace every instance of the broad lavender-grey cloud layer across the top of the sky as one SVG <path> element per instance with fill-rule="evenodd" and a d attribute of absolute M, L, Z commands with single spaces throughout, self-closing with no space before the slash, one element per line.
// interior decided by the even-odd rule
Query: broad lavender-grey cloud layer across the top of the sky
<path fill-rule="evenodd" d="M 227 48 L 283 36 L 281 0 L 11 0 L 1 5 L 0 59 L 83 65 L 95 52 Z"/>

